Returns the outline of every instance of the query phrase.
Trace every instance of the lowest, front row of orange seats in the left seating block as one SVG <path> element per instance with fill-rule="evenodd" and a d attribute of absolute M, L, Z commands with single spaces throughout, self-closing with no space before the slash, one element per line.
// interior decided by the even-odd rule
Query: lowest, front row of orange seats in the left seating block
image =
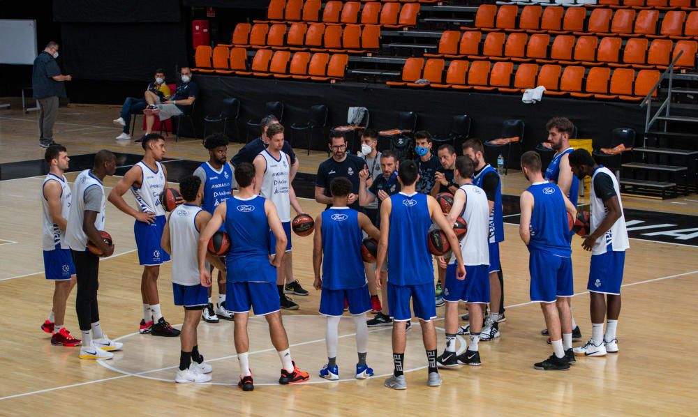
<path fill-rule="evenodd" d="M 310 52 L 258 50 L 247 65 L 247 50 L 217 46 L 211 62 L 211 47 L 200 45 L 196 48 L 196 73 L 216 73 L 223 75 L 253 75 L 255 77 L 276 77 L 293 79 L 313 79 L 334 81 L 343 79 L 346 74 L 349 56 L 347 54 L 312 54 Z"/>

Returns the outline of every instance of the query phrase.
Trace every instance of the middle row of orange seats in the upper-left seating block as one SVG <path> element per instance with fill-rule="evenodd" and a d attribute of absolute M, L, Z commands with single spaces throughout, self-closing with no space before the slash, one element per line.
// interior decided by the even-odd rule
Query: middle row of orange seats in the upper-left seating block
<path fill-rule="evenodd" d="M 276 23 L 269 28 L 266 23 L 239 23 L 232 32 L 232 45 L 224 46 L 362 54 L 380 49 L 380 26 L 293 23 L 289 28 Z"/>

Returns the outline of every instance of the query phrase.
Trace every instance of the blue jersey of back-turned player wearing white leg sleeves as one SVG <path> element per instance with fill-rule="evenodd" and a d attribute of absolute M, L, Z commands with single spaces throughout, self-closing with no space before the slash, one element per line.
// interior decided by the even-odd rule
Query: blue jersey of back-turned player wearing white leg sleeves
<path fill-rule="evenodd" d="M 361 258 L 359 212 L 327 208 L 322 212 L 322 288 L 355 289 L 366 285 Z"/>

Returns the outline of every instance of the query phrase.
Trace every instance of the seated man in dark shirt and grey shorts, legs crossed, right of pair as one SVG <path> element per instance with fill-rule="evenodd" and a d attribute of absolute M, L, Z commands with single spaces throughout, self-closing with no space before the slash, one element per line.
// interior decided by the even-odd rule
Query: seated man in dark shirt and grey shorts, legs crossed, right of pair
<path fill-rule="evenodd" d="M 191 81 L 191 70 L 189 67 L 181 67 L 179 75 L 181 76 L 181 82 L 177 83 L 177 89 L 169 100 L 161 102 L 159 97 L 152 91 L 145 92 L 145 100 L 148 103 L 148 107 L 143 110 L 145 114 L 145 135 L 135 141 L 136 143 L 142 142 L 144 137 L 151 134 L 155 116 L 158 116 L 160 121 L 165 121 L 172 116 L 191 112 L 194 100 L 199 96 L 199 86 Z"/>

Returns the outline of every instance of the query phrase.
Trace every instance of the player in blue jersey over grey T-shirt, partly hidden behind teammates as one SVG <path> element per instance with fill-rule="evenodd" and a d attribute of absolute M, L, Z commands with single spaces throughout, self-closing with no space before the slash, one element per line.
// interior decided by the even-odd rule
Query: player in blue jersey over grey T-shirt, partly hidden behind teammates
<path fill-rule="evenodd" d="M 204 146 L 209 151 L 209 160 L 199 165 L 194 171 L 204 185 L 204 197 L 201 208 L 209 214 L 213 214 L 218 204 L 225 201 L 232 194 L 232 167 L 225 163 L 228 157 L 228 137 L 215 133 L 206 137 Z M 211 287 L 209 302 L 203 310 L 204 320 L 208 323 L 218 323 L 218 318 L 232 320 L 232 314 L 225 310 L 225 275 L 218 270 L 218 301 L 216 310 L 211 300 Z"/>

